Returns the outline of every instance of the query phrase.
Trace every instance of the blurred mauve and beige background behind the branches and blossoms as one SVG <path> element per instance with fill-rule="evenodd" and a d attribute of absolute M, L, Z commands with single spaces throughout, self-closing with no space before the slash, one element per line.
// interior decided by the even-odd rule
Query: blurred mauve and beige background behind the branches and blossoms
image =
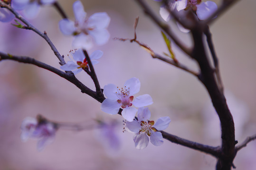
<path fill-rule="evenodd" d="M 59 0 L 70 19 L 74 19 L 72 4 L 75 0 Z M 146 0 L 158 14 L 160 4 Z M 220 1 L 215 1 L 217 4 Z M 174 68 L 151 56 L 135 43 L 119 42 L 114 37 L 133 38 L 133 23 L 139 16 L 137 39 L 148 44 L 155 52 L 167 52 L 161 32 L 146 17 L 133 0 L 82 0 L 87 15 L 107 12 L 111 17 L 109 42 L 95 46 L 89 53 L 102 50 L 104 55 L 95 65 L 100 85 L 123 85 L 138 77 L 141 91 L 150 94 L 152 119 L 169 116 L 168 133 L 188 140 L 218 146 L 221 144 L 218 116 L 204 86 L 194 76 Z M 219 58 L 220 72 L 233 114 L 236 140 L 241 143 L 256 133 L 256 1 L 240 0 L 210 26 Z M 159 16 L 160 17 L 160 16 Z M 44 6 L 36 19 L 30 22 L 46 31 L 60 54 L 72 49 L 72 37 L 61 34 L 55 8 Z M 14 21 L 12 21 L 14 23 Z M 188 45 L 190 34 L 180 33 L 176 24 L 172 30 Z M 0 23 L 0 51 L 29 56 L 59 68 L 58 59 L 47 43 L 37 34 L 18 29 L 9 23 Z M 197 70 L 197 65 L 184 55 L 175 44 L 177 59 Z M 76 75 L 94 90 L 92 80 L 84 72 Z M 110 151 L 102 144 L 105 139 L 99 129 L 74 132 L 59 130 L 54 142 L 41 152 L 37 140 L 23 143 L 20 125 L 26 117 L 42 114 L 58 122 L 92 125 L 95 119 L 112 121 L 117 125 L 121 141 L 118 151 Z M 100 103 L 80 92 L 65 79 L 36 66 L 15 61 L 0 62 L 0 170 L 214 170 L 216 159 L 164 139 L 162 146 L 151 143 L 137 150 L 133 134 L 123 131 L 122 117 L 108 115 L 100 110 Z M 256 169 L 256 142 L 251 142 L 237 153 L 237 170 Z"/>

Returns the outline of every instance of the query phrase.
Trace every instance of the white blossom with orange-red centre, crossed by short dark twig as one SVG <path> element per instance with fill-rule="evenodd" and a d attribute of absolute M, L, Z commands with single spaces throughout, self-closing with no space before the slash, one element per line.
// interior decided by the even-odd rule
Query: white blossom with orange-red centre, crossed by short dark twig
<path fill-rule="evenodd" d="M 73 59 L 75 61 L 73 61 L 71 59 L 71 61 L 67 61 L 66 64 L 64 64 L 63 66 L 60 66 L 60 69 L 63 69 L 65 71 L 72 71 L 74 74 L 77 74 L 79 72 L 81 72 L 83 69 L 88 68 L 88 62 L 85 58 L 85 54 L 83 52 L 82 49 L 78 49 L 78 50 L 71 50 L 69 51 L 69 53 L 73 56 Z M 91 55 L 90 55 L 90 59 L 92 64 L 97 64 L 99 61 L 95 60 L 95 59 L 100 59 L 103 55 L 103 52 L 100 50 L 96 50 L 94 51 Z"/>

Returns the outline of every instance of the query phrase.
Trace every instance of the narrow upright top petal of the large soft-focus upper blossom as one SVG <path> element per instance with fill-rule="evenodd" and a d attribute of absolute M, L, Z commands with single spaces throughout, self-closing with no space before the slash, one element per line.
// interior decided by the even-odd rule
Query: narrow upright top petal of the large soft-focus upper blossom
<path fill-rule="evenodd" d="M 79 24 L 83 24 L 85 22 L 86 12 L 84 10 L 84 6 L 80 0 L 77 0 L 73 4 L 73 11 L 76 17 L 76 21 Z"/>

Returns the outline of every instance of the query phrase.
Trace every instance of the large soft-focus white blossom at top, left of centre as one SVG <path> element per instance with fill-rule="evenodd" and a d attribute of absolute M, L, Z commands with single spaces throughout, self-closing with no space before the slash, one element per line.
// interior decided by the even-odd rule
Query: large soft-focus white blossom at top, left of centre
<path fill-rule="evenodd" d="M 65 35 L 74 35 L 72 45 L 76 48 L 90 49 L 93 39 L 96 44 L 103 45 L 110 37 L 107 27 L 110 17 L 105 12 L 95 13 L 86 18 L 83 4 L 78 0 L 73 4 L 76 22 L 69 19 L 59 21 L 60 31 Z"/>

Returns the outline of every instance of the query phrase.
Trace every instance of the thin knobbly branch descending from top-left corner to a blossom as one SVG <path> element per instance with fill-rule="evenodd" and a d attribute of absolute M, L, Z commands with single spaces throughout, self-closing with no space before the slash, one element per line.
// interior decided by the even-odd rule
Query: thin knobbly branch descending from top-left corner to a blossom
<path fill-rule="evenodd" d="M 7 8 L 9 9 L 16 18 L 18 18 L 21 22 L 23 22 L 26 25 L 25 29 L 29 29 L 34 31 L 35 33 L 37 33 L 38 35 L 40 35 L 43 39 L 46 40 L 46 42 L 49 44 L 49 46 L 51 47 L 52 51 L 54 52 L 54 54 L 57 56 L 57 58 L 60 61 L 60 65 L 64 65 L 66 64 L 65 60 L 63 59 L 63 57 L 59 54 L 59 52 L 57 51 L 57 48 L 55 47 L 55 45 L 51 42 L 51 40 L 49 39 L 49 37 L 47 36 L 47 33 L 44 32 L 40 32 L 36 27 L 32 26 L 24 17 L 22 17 L 21 15 L 19 15 L 18 12 L 16 12 L 16 10 L 14 10 L 10 5 L 7 5 L 6 3 L 4 3 L 3 1 L 0 0 L 0 5 L 3 8 Z"/>

